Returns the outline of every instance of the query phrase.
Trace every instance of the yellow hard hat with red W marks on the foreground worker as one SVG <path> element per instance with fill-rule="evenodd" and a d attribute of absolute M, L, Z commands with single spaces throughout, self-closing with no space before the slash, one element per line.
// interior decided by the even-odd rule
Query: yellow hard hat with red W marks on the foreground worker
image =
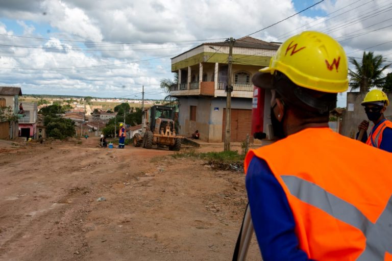
<path fill-rule="evenodd" d="M 332 37 L 305 31 L 286 40 L 260 72 L 284 73 L 298 86 L 329 93 L 347 91 L 348 62 L 345 50 Z M 262 87 L 262 86 L 260 86 Z"/>

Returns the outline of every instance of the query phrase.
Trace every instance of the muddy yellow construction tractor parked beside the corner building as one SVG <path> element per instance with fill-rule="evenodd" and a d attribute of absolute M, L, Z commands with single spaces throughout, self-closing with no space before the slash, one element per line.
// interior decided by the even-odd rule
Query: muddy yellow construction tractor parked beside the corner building
<path fill-rule="evenodd" d="M 180 150 L 183 136 L 176 133 L 175 108 L 156 106 L 143 111 L 142 133 L 133 136 L 135 147 L 151 149 L 168 146 L 169 150 Z"/>

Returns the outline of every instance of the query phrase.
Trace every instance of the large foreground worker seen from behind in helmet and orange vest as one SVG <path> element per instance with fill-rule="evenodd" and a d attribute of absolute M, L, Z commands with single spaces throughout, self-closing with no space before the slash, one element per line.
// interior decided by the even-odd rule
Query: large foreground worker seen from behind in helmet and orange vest
<path fill-rule="evenodd" d="M 328 35 L 303 32 L 260 71 L 252 81 L 271 89 L 281 138 L 251 150 L 244 163 L 263 260 L 392 258 L 392 154 L 328 127 L 337 93 L 348 89 L 344 49 Z"/>

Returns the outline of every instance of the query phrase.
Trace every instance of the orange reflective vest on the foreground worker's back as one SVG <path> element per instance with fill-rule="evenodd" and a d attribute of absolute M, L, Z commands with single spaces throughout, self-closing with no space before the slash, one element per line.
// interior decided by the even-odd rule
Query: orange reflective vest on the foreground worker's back
<path fill-rule="evenodd" d="M 249 151 L 246 171 L 253 156 L 282 186 L 309 258 L 392 260 L 390 153 L 329 128 L 307 128 Z"/>

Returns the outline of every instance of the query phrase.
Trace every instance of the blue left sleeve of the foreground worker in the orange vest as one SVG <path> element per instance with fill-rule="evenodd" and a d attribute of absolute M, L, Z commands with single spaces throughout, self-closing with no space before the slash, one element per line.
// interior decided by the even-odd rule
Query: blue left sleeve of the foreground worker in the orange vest
<path fill-rule="evenodd" d="M 310 260 L 299 249 L 286 194 L 264 160 L 253 157 L 246 175 L 252 222 L 264 261 Z"/>

